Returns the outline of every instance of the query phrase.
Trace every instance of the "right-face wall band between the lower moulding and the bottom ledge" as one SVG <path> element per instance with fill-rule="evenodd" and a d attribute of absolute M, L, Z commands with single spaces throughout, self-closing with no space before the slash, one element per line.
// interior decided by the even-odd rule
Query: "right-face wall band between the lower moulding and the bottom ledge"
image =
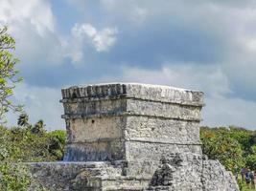
<path fill-rule="evenodd" d="M 199 124 L 195 121 L 163 117 L 127 117 L 125 138 L 147 142 L 200 144 Z"/>

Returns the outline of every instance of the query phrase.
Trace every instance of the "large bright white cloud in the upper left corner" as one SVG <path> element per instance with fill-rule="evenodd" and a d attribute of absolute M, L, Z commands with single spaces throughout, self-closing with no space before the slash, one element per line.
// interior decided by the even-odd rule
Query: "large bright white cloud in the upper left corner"
<path fill-rule="evenodd" d="M 48 0 L 1 0 L 0 24 L 8 25 L 16 40 L 22 66 L 60 64 L 61 44 Z"/>

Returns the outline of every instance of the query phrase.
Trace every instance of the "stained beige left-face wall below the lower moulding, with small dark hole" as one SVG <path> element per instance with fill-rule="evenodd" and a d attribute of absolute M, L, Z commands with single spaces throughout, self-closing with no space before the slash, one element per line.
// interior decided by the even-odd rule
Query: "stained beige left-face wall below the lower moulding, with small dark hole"
<path fill-rule="evenodd" d="M 64 160 L 102 161 L 125 159 L 124 117 L 89 117 L 68 120 Z"/>

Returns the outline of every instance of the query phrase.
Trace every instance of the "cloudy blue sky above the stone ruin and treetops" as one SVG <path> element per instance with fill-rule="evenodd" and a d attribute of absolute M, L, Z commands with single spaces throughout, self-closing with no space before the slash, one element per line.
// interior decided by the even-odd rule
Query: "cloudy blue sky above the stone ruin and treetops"
<path fill-rule="evenodd" d="M 116 81 L 202 91 L 202 125 L 256 129 L 255 0 L 0 0 L 0 25 L 24 78 L 12 99 L 49 130 L 61 88 Z"/>

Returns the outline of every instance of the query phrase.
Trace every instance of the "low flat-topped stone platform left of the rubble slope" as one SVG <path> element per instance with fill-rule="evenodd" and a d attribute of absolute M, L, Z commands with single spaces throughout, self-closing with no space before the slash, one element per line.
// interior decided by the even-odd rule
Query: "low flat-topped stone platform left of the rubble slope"
<path fill-rule="evenodd" d="M 36 180 L 51 191 L 144 190 L 151 177 L 127 177 L 123 162 L 30 162 Z M 33 190 L 33 188 L 31 189 Z"/>

